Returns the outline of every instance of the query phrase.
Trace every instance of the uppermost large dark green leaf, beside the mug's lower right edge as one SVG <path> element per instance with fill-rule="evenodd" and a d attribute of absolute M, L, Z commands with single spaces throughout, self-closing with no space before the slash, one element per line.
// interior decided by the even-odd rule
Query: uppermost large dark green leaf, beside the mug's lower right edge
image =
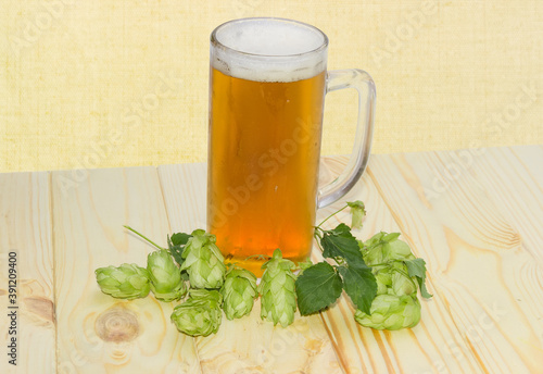
<path fill-rule="evenodd" d="M 342 223 L 334 229 L 324 233 L 320 245 L 323 246 L 323 255 L 325 258 L 342 258 L 352 267 L 367 269 L 358 247 L 358 241 L 351 234 L 348 225 Z"/>

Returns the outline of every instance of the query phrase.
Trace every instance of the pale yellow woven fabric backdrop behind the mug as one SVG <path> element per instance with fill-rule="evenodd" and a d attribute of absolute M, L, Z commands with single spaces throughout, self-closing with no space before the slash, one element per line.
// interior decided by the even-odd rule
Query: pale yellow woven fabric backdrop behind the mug
<path fill-rule="evenodd" d="M 543 1 L 2 1 L 0 172 L 206 159 L 209 35 L 300 20 L 377 85 L 374 151 L 543 144 Z M 355 97 L 327 98 L 349 153 Z"/>

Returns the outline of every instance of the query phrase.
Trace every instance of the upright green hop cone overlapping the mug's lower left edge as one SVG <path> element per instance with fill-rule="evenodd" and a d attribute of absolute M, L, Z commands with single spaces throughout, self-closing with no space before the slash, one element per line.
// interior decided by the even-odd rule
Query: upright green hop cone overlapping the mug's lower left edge
<path fill-rule="evenodd" d="M 220 288 L 226 266 L 224 257 L 215 245 L 215 235 L 203 229 L 192 232 L 182 258 L 181 271 L 189 274 L 190 286 L 194 288 Z"/>

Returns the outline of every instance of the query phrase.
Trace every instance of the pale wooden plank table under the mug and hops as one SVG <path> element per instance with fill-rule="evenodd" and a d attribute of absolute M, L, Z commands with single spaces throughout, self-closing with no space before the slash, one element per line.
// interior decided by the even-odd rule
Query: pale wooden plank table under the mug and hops
<path fill-rule="evenodd" d="M 323 179 L 345 162 L 326 159 Z M 355 188 L 318 212 L 361 199 L 359 238 L 401 232 L 426 259 L 434 296 L 419 325 L 399 332 L 357 325 L 342 297 L 288 328 L 262 322 L 256 302 L 249 317 L 191 338 L 169 322 L 171 303 L 101 294 L 96 267 L 144 264 L 153 250 L 122 225 L 164 245 L 167 233 L 205 227 L 205 184 L 204 164 L 0 175 L 0 372 L 542 372 L 542 146 L 374 155 Z"/>

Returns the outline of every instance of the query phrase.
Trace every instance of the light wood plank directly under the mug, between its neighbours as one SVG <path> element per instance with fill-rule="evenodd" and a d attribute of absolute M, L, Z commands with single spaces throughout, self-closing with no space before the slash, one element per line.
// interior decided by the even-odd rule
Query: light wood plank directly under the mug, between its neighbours
<path fill-rule="evenodd" d="M 205 165 L 161 166 L 159 173 L 172 229 L 205 228 Z M 249 316 L 223 319 L 218 333 L 197 346 L 204 373 L 342 372 L 318 315 L 298 314 L 289 327 L 274 327 L 261 321 L 260 300 Z"/>

